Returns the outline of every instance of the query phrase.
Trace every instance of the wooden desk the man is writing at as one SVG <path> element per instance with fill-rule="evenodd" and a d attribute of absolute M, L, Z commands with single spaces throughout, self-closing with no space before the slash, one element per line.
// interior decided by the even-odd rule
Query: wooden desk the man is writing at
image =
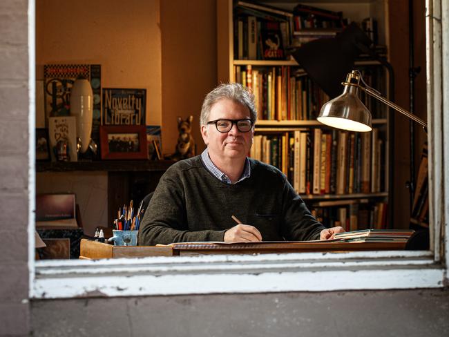
<path fill-rule="evenodd" d="M 252 242 L 236 244 L 176 243 L 170 247 L 113 246 L 101 242 L 81 240 L 80 256 L 83 259 L 142 258 L 144 256 L 193 256 L 203 254 L 262 254 L 305 253 L 318 251 L 380 251 L 402 250 L 405 242 Z"/>

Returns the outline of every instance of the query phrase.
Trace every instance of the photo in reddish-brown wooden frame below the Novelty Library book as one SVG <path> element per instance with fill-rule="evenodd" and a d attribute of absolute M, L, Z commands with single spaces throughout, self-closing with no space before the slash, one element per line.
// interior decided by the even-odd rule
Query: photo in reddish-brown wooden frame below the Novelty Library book
<path fill-rule="evenodd" d="M 100 126 L 102 159 L 147 159 L 144 125 Z"/>

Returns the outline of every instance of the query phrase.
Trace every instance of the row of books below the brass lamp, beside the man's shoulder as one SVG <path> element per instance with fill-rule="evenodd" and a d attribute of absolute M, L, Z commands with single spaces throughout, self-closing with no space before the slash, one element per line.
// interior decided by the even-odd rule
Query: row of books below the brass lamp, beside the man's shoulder
<path fill-rule="evenodd" d="M 300 194 L 379 193 L 385 186 L 384 144 L 377 128 L 258 134 L 250 155 L 278 167 Z"/>

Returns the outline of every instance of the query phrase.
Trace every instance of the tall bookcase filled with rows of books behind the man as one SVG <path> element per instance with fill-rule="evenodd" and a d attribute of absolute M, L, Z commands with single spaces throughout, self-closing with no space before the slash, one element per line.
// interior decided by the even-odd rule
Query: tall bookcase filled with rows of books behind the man
<path fill-rule="evenodd" d="M 321 107 L 333 97 L 289 55 L 314 39 L 336 37 L 348 20 L 342 12 L 314 6 L 278 5 L 233 1 L 229 77 L 251 89 L 258 112 L 250 155 L 278 167 L 325 226 L 387 229 L 388 107 L 361 92 L 361 102 L 372 113 L 372 132 L 338 131 L 319 124 Z M 374 18 L 364 20 L 362 28 L 377 40 Z M 381 51 L 385 54 L 386 49 Z M 385 69 L 372 54 L 358 59 L 356 68 L 368 86 L 388 93 Z"/>

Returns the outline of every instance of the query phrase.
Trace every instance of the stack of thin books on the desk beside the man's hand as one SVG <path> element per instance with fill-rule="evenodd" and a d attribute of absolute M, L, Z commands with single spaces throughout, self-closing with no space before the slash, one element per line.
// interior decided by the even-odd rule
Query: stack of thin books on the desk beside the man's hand
<path fill-rule="evenodd" d="M 364 229 L 336 233 L 334 239 L 342 242 L 407 242 L 413 233 L 412 229 Z"/>

